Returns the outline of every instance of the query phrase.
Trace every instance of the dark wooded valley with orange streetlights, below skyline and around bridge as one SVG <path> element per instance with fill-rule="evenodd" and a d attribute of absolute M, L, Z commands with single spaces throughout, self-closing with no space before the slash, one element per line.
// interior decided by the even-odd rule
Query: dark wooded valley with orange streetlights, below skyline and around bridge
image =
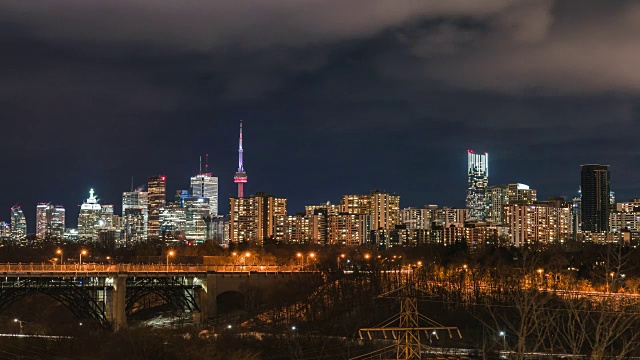
<path fill-rule="evenodd" d="M 165 251 L 160 244 L 106 249 L 42 243 L 2 247 L 0 261 L 49 261 L 58 248 L 66 254 L 88 249 L 92 256 L 87 261 L 94 262 L 160 262 Z M 246 251 L 257 263 L 303 263 L 323 276 L 319 284 L 289 283 L 268 297 L 247 289 L 245 296 L 227 300 L 233 304 L 219 299 L 223 311 L 205 327 L 185 321 L 160 329 L 132 321 L 129 329 L 105 332 L 80 325 L 45 296 L 33 296 L 0 313 L 0 331 L 18 333 L 12 320 L 20 317 L 26 321 L 25 334 L 68 337 L 0 337 L 0 358 L 349 359 L 389 344 L 360 341 L 358 329 L 396 313 L 397 303 L 377 297 L 401 286 L 432 294 L 420 300 L 420 312 L 463 334 L 462 340 L 423 336 L 428 345 L 473 349 L 476 358 L 640 356 L 640 300 L 635 296 L 640 255 L 630 247 L 575 243 L 469 249 L 458 244 L 381 250 L 269 244 L 226 250 L 203 244 L 174 249 L 182 256 L 176 262 L 201 262 L 202 256 L 232 262 L 232 252 Z"/>

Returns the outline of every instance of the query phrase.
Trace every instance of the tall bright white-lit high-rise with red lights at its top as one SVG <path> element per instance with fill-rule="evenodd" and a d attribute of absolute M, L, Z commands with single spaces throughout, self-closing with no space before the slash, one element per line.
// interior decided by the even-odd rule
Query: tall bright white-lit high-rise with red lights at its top
<path fill-rule="evenodd" d="M 485 221 L 489 204 L 487 187 L 489 185 L 489 154 L 476 154 L 467 150 L 467 209 L 469 220 Z"/>

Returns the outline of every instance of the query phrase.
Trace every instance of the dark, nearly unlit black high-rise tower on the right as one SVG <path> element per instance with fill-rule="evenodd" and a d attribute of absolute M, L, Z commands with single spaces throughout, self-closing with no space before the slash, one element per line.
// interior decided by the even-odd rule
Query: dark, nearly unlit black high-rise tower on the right
<path fill-rule="evenodd" d="M 580 189 L 582 191 L 582 231 L 609 231 L 609 165 L 582 165 Z"/>

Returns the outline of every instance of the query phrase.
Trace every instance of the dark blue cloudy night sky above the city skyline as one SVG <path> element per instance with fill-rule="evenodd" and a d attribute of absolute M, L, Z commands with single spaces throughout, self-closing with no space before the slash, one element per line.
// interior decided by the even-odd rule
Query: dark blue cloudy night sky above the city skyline
<path fill-rule="evenodd" d="M 198 157 L 235 193 L 305 204 L 372 189 L 464 206 L 466 150 L 489 183 L 573 197 L 580 164 L 640 195 L 640 3 L 617 0 L 0 2 L 0 220 L 67 208 Z"/>

